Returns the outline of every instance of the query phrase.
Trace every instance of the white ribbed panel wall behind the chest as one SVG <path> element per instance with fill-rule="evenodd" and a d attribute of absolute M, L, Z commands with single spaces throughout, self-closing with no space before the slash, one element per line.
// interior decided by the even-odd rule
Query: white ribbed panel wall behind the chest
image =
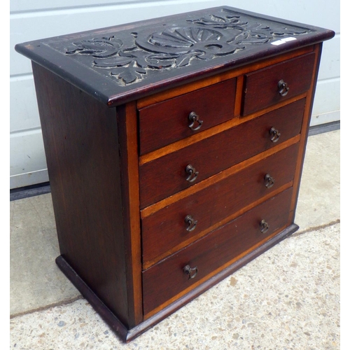
<path fill-rule="evenodd" d="M 11 0 L 10 1 L 10 188 L 48 181 L 31 62 L 15 52 L 16 43 L 110 27 L 148 18 L 222 6 L 222 1 Z M 323 46 L 311 125 L 339 120 L 339 3 L 318 0 L 227 6 L 325 27 L 337 36 Z"/>

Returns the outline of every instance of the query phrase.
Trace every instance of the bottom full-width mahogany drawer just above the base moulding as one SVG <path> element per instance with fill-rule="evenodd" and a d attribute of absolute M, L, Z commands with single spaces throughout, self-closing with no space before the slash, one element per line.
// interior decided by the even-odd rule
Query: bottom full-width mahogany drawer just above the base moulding
<path fill-rule="evenodd" d="M 144 314 L 176 297 L 267 236 L 278 233 L 287 224 L 292 192 L 293 188 L 283 191 L 144 271 Z M 265 233 L 260 230 L 261 221 L 269 225 Z M 197 267 L 194 278 L 184 272 L 186 266 L 194 269 L 193 275 Z"/>

